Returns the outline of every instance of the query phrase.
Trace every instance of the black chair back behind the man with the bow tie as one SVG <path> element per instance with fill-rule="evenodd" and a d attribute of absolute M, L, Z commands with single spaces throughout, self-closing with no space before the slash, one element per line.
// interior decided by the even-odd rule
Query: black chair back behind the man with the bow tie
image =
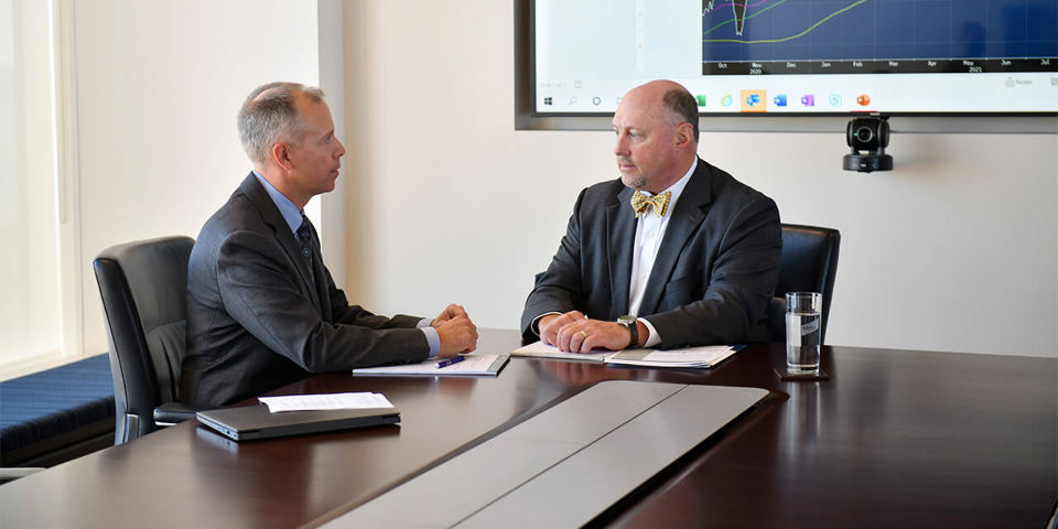
<path fill-rule="evenodd" d="M 819 292 L 823 294 L 819 342 L 827 338 L 830 302 L 834 296 L 838 274 L 838 249 L 841 233 L 816 226 L 782 225 L 782 257 L 775 298 L 768 303 L 768 333 L 771 342 L 786 342 L 786 293 Z"/>

